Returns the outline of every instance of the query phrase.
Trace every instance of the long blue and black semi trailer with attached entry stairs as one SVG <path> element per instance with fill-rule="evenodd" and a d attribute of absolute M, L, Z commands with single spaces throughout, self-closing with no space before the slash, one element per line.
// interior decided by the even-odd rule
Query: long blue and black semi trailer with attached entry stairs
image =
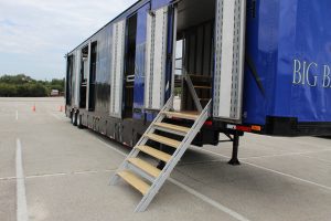
<path fill-rule="evenodd" d="M 140 0 L 67 53 L 66 116 L 132 147 L 110 182 L 142 193 L 136 211 L 190 145 L 232 141 L 238 165 L 245 133 L 330 136 L 329 9 L 328 0 Z"/>

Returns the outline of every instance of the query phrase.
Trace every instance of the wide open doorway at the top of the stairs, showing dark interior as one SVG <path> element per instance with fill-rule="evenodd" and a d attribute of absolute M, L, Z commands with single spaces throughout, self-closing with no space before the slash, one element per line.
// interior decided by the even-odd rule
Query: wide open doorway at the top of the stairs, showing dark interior
<path fill-rule="evenodd" d="M 201 110 L 212 98 L 215 6 L 216 0 L 178 3 L 174 88 L 182 112 Z"/>

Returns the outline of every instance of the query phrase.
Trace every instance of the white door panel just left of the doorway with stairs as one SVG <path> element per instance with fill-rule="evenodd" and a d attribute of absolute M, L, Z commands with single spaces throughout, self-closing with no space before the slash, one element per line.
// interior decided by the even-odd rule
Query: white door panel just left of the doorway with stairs
<path fill-rule="evenodd" d="M 161 109 L 164 105 L 168 41 L 168 7 L 147 18 L 145 107 Z"/>

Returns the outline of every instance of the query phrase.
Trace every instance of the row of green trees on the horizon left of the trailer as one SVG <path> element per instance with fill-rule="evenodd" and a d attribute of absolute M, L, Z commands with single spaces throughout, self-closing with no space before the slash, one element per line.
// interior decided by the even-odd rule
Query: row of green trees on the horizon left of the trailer
<path fill-rule="evenodd" d="M 24 74 L 0 76 L 0 97 L 45 97 L 64 93 L 64 80 L 36 81 Z"/>

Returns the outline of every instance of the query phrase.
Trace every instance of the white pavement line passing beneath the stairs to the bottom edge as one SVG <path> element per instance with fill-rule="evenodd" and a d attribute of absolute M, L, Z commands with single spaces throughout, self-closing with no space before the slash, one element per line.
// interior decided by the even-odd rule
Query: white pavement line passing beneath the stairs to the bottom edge
<path fill-rule="evenodd" d="M 106 145 L 108 148 L 110 148 L 111 150 L 120 154 L 124 157 L 127 157 L 127 154 L 116 149 L 115 147 L 111 147 L 110 145 L 108 145 L 107 143 L 100 140 L 99 138 L 96 138 L 97 140 L 99 140 L 103 145 Z M 185 190 L 186 192 L 193 194 L 194 197 L 201 199 L 202 201 L 206 202 L 210 206 L 213 206 L 214 208 L 225 212 L 226 214 L 233 217 L 234 219 L 238 220 L 238 221 L 249 221 L 248 219 L 244 218 L 243 215 L 241 215 L 239 213 L 233 211 L 232 209 L 226 208 L 225 206 L 221 204 L 220 202 L 216 202 L 215 200 L 209 198 L 207 196 L 202 194 L 201 192 L 195 191 L 194 189 L 185 186 L 184 183 L 174 180 L 172 178 L 168 179 L 171 183 L 178 186 L 179 188 Z"/>

